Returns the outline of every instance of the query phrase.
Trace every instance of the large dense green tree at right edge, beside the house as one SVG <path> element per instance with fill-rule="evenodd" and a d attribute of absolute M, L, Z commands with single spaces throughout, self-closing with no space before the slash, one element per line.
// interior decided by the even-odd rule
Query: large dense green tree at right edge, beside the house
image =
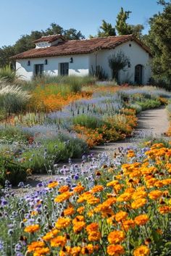
<path fill-rule="evenodd" d="M 162 79 L 171 84 L 171 2 L 160 1 L 163 12 L 149 20 L 149 35 L 146 44 L 153 54 L 152 72 L 154 78 Z"/>

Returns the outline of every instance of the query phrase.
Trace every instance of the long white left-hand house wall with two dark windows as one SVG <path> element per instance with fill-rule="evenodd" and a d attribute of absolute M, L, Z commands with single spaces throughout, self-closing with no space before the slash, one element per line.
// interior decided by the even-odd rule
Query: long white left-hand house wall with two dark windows
<path fill-rule="evenodd" d="M 31 80 L 36 64 L 43 64 L 44 74 L 59 75 L 59 63 L 70 62 L 70 57 L 72 57 L 73 62 L 69 63 L 69 75 L 84 76 L 89 74 L 89 56 L 88 54 L 81 54 L 64 57 L 18 59 L 16 61 L 17 75 L 21 75 L 24 80 Z M 45 59 L 48 61 L 47 65 L 44 65 Z M 28 60 L 30 60 L 30 66 L 27 65 Z"/>

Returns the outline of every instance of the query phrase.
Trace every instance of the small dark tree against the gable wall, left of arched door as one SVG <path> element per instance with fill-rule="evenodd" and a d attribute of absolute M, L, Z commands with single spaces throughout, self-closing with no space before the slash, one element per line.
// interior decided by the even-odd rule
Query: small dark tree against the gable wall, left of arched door
<path fill-rule="evenodd" d="M 112 54 L 108 62 L 112 70 L 112 79 L 118 80 L 118 72 L 128 66 L 129 58 L 122 51 L 119 51 L 117 54 Z"/>

